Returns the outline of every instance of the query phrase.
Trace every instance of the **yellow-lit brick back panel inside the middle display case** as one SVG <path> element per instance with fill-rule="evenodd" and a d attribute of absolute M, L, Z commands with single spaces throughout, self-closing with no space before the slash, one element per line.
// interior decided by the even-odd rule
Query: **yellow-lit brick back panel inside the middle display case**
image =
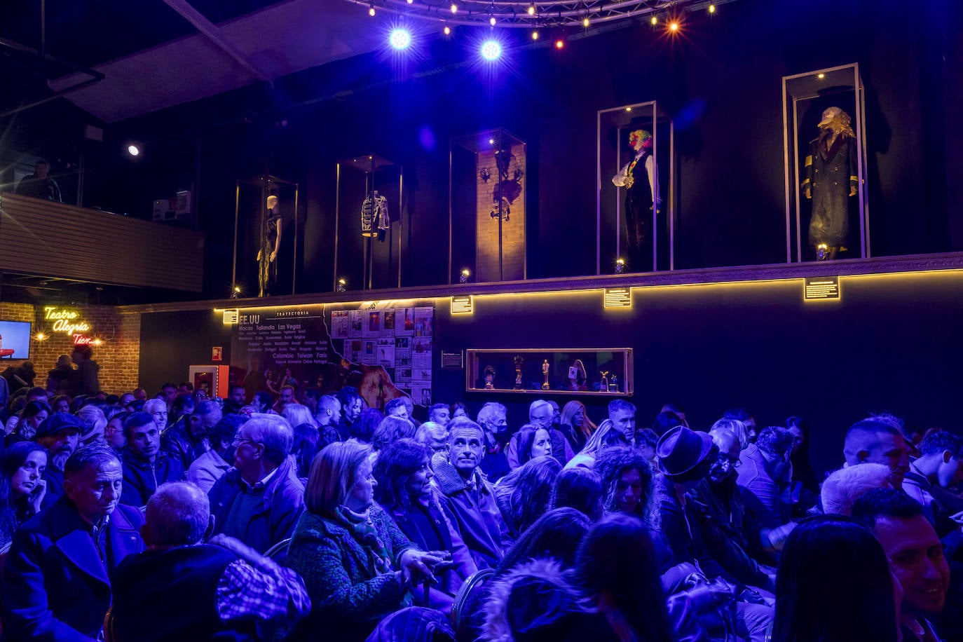
<path fill-rule="evenodd" d="M 508 180 L 514 177 L 515 169 L 528 171 L 525 159 L 525 145 L 511 146 L 511 164 L 508 166 Z M 481 151 L 476 157 L 475 171 L 478 212 L 478 246 L 476 249 L 475 271 L 478 281 L 503 280 L 498 271 L 498 218 L 491 217 L 492 193 L 498 185 L 498 167 L 495 166 L 494 150 Z M 488 182 L 481 180 L 481 169 L 491 172 Z M 502 221 L 502 270 L 504 280 L 520 280 L 525 277 L 525 198 L 527 194 L 526 177 L 521 180 L 522 193 L 510 206 L 510 218 Z"/>

